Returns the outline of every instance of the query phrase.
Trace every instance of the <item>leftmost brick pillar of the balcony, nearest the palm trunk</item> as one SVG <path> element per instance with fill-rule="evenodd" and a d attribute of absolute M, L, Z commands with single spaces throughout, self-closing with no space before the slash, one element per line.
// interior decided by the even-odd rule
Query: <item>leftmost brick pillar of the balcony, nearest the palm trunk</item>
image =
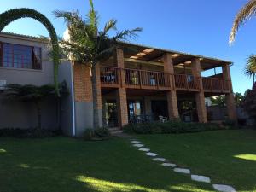
<path fill-rule="evenodd" d="M 124 51 L 123 49 L 116 50 L 117 67 L 119 67 L 119 80 L 121 81 L 121 86 L 116 91 L 117 95 L 117 108 L 118 108 L 118 119 L 119 127 L 128 124 L 128 107 L 125 89 L 125 61 L 124 61 Z"/>

